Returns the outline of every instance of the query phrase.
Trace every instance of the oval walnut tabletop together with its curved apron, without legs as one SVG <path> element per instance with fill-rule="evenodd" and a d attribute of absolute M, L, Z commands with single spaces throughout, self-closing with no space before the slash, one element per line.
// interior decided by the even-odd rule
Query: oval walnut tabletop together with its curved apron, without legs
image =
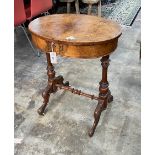
<path fill-rule="evenodd" d="M 117 47 L 120 26 L 104 18 L 55 14 L 35 19 L 29 24 L 37 48 L 66 57 L 95 58 L 110 54 Z"/>

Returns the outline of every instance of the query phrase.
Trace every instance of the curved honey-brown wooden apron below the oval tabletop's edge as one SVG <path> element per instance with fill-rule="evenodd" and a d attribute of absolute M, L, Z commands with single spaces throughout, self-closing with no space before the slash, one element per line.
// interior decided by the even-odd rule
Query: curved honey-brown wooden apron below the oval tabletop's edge
<path fill-rule="evenodd" d="M 51 52 L 51 44 L 45 39 L 39 38 L 32 34 L 32 41 L 34 45 L 42 52 Z M 113 39 L 108 43 L 95 44 L 95 45 L 66 45 L 60 43 L 54 43 L 54 51 L 57 55 L 71 58 L 98 58 L 109 55 L 112 53 L 118 43 L 118 38 Z"/>

